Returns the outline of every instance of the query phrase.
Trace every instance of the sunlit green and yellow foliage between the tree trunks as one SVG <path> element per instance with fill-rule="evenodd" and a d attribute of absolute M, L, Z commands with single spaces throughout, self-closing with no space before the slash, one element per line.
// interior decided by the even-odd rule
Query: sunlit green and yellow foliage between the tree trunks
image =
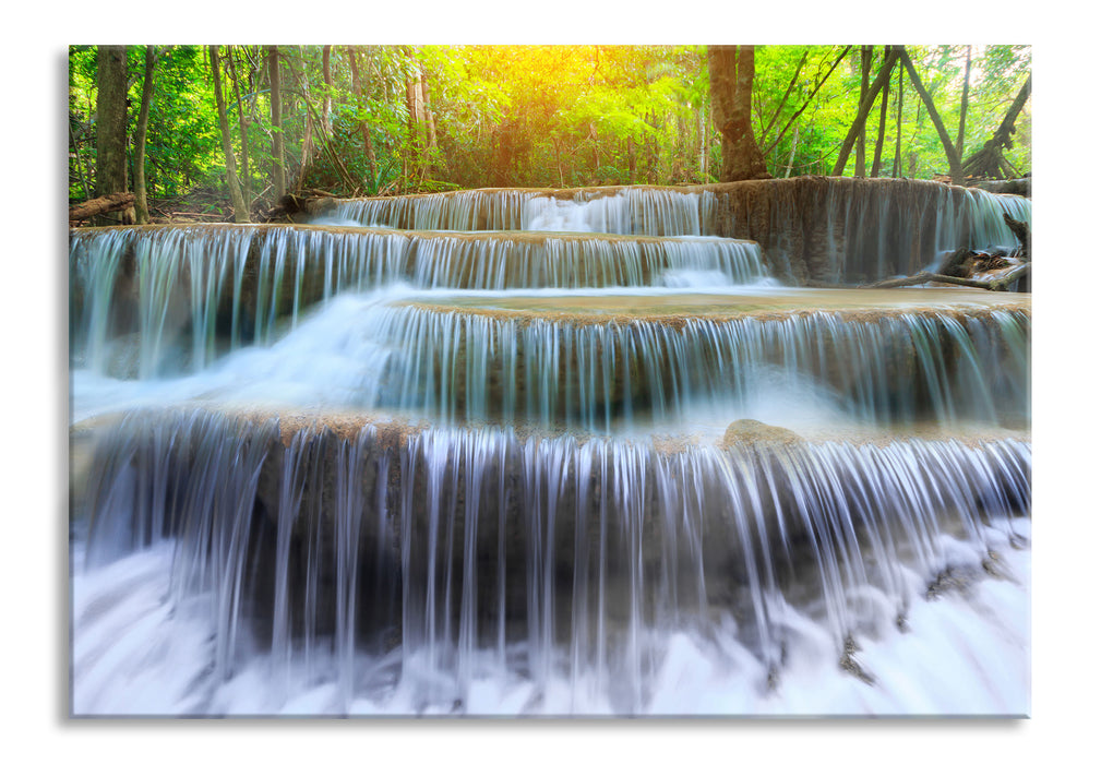
<path fill-rule="evenodd" d="M 774 176 L 826 174 L 832 168 L 859 106 L 860 46 L 849 48 L 815 90 L 844 50 L 840 45 L 755 48 L 753 127 Z M 966 46 L 907 46 L 907 51 L 955 141 Z M 501 185 L 708 183 L 719 165 L 704 46 L 363 46 L 355 48 L 362 94 L 353 87 L 346 46 L 330 50 L 330 85 L 325 84 L 320 46 L 280 46 L 280 54 L 282 132 L 292 185 L 301 176 L 305 187 L 373 195 Z M 877 46 L 871 79 L 883 56 L 883 46 Z M 130 47 L 131 130 L 141 101 L 143 57 L 143 46 Z M 159 48 L 146 143 L 146 183 L 154 198 L 225 190 L 208 57 L 200 46 Z M 220 57 L 239 172 L 253 195 L 262 194 L 262 203 L 274 204 L 269 174 L 275 133 L 265 50 L 224 46 Z M 972 47 L 964 156 L 996 129 L 1029 69 L 1026 46 Z M 326 98 L 329 116 L 323 124 Z M 895 150 L 897 70 L 887 98 L 881 174 L 890 174 Z M 94 186 L 95 105 L 96 48 L 73 46 L 68 103 L 73 199 L 85 195 L 81 170 Z M 247 117 L 247 166 L 241 159 L 239 109 Z M 313 138 L 304 155 L 307 124 Z M 865 129 L 869 168 L 877 128 L 879 102 Z M 1016 128 L 1007 159 L 1027 172 L 1027 107 Z M 901 149 L 903 174 L 911 166 L 918 177 L 947 173 L 944 149 L 908 80 Z M 850 155 L 846 172 L 851 174 L 854 167 Z"/>

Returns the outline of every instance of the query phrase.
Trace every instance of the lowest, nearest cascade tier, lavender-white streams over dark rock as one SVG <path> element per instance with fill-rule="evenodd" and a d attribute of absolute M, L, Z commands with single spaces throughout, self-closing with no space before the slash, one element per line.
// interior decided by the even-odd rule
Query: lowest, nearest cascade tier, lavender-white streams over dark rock
<path fill-rule="evenodd" d="M 783 681 L 793 611 L 841 651 L 905 622 L 914 571 L 958 565 L 961 541 L 1016 542 L 1029 509 L 1015 440 L 669 451 L 380 427 L 284 445 L 272 421 L 130 414 L 90 468 L 88 564 L 175 538 L 176 596 L 209 593 L 224 680 L 268 627 L 276 669 L 321 681 L 336 665 L 347 703 L 357 656 L 383 662 L 401 634 L 384 680 L 417 707 L 465 707 L 489 661 L 640 712 L 668 630 L 734 629 Z M 734 624 L 715 622 L 734 603 Z"/>

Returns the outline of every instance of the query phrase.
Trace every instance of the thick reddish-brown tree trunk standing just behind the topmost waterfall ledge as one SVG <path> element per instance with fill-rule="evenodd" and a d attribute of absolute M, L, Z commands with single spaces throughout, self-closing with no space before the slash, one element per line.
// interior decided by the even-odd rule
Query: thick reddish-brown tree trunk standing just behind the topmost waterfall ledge
<path fill-rule="evenodd" d="M 721 134 L 720 182 L 772 177 L 753 138 L 753 46 L 711 45 L 707 50 L 711 79 L 711 118 Z"/>

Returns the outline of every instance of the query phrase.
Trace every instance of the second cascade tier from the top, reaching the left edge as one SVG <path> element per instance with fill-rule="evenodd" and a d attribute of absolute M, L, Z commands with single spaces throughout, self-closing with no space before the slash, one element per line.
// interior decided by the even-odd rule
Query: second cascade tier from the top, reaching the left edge
<path fill-rule="evenodd" d="M 315 226 L 150 226 L 75 231 L 70 349 L 100 371 L 139 343 L 137 373 L 198 371 L 269 343 L 316 303 L 415 288 L 709 286 L 767 279 L 754 242 L 715 237 L 457 233 Z M 185 356 L 186 353 L 186 356 Z M 133 373 L 133 372 L 131 372 Z"/>

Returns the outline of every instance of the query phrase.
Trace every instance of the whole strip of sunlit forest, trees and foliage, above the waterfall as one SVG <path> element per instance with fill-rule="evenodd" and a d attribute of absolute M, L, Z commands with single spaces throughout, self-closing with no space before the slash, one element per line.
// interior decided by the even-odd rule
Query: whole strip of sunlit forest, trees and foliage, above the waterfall
<path fill-rule="evenodd" d="M 1032 170 L 1025 45 L 74 45 L 68 59 L 70 221 L 270 220 L 307 190 Z"/>

